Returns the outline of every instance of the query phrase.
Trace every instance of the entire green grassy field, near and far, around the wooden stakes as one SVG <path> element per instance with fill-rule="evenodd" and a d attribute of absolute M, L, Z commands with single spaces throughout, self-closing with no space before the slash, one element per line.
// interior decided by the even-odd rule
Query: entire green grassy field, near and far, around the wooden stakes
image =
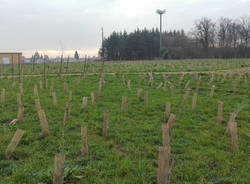
<path fill-rule="evenodd" d="M 66 66 L 66 64 L 64 64 Z M 100 71 L 100 64 L 88 64 L 87 72 Z M 99 75 L 47 77 L 48 88 L 39 88 L 43 77 L 23 79 L 24 117 L 16 126 L 9 122 L 17 116 L 16 94 L 19 79 L 12 89 L 13 79 L 0 80 L 5 88 L 5 103 L 0 107 L 0 183 L 52 183 L 55 154 L 65 154 L 65 183 L 157 183 L 158 148 L 162 146 L 162 123 L 165 103 L 171 103 L 171 113 L 177 117 L 171 131 L 170 183 L 247 184 L 250 181 L 250 71 L 231 72 L 233 68 L 247 68 L 249 60 L 205 60 L 134 62 L 105 64 L 105 84 L 95 106 L 91 105 L 91 92 L 98 91 Z M 84 63 L 71 63 L 69 73 L 82 72 Z M 16 66 L 16 69 L 18 67 Z M 46 65 L 47 74 L 59 70 L 59 64 Z M 11 75 L 11 66 L 2 68 L 3 76 Z M 214 75 L 201 76 L 197 106 L 192 110 L 192 97 L 197 86 L 197 76 L 186 74 L 179 84 L 181 74 L 164 76 L 154 74 L 154 84 L 149 85 L 148 74 L 133 72 L 174 72 L 225 70 Z M 65 73 L 64 68 L 64 73 Z M 18 74 L 18 71 L 15 72 Z M 24 66 L 24 74 L 32 73 L 32 65 Z M 43 65 L 36 65 L 34 73 L 43 73 Z M 130 74 L 131 73 L 131 74 Z M 126 85 L 123 84 L 123 77 Z M 240 80 L 237 83 L 237 80 Z M 127 83 L 131 81 L 131 90 Z M 157 88 L 166 81 L 166 90 Z M 184 102 L 185 85 L 189 82 L 190 95 Z M 209 83 L 210 81 L 210 83 Z M 64 92 L 64 82 L 72 91 L 70 122 L 63 117 L 69 94 Z M 170 85 L 174 85 L 171 95 Z M 42 134 L 35 108 L 34 85 L 38 86 L 41 107 L 45 111 L 50 136 Z M 237 84 L 234 86 L 234 84 Z M 213 98 L 209 96 L 215 85 Z M 50 86 L 56 92 L 58 106 L 53 105 Z M 148 106 L 137 99 L 137 89 L 148 93 Z M 82 98 L 88 97 L 87 112 L 81 111 Z M 122 96 L 127 97 L 126 111 L 121 113 Z M 223 121 L 217 123 L 218 101 L 223 102 Z M 104 111 L 110 111 L 108 135 L 102 136 Z M 224 135 L 231 112 L 238 111 L 239 151 L 232 151 L 231 136 Z M 81 156 L 81 126 L 88 130 L 88 156 Z M 7 160 L 5 150 L 15 131 L 25 131 L 14 155 Z"/>

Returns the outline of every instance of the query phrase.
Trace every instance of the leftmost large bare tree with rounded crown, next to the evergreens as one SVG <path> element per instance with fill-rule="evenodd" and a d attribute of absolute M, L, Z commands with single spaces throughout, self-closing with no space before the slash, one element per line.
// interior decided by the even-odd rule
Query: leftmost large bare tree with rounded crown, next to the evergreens
<path fill-rule="evenodd" d="M 216 23 L 211 19 L 202 18 L 195 22 L 194 36 L 201 43 L 204 49 L 208 49 L 210 46 L 215 46 L 216 41 Z"/>

